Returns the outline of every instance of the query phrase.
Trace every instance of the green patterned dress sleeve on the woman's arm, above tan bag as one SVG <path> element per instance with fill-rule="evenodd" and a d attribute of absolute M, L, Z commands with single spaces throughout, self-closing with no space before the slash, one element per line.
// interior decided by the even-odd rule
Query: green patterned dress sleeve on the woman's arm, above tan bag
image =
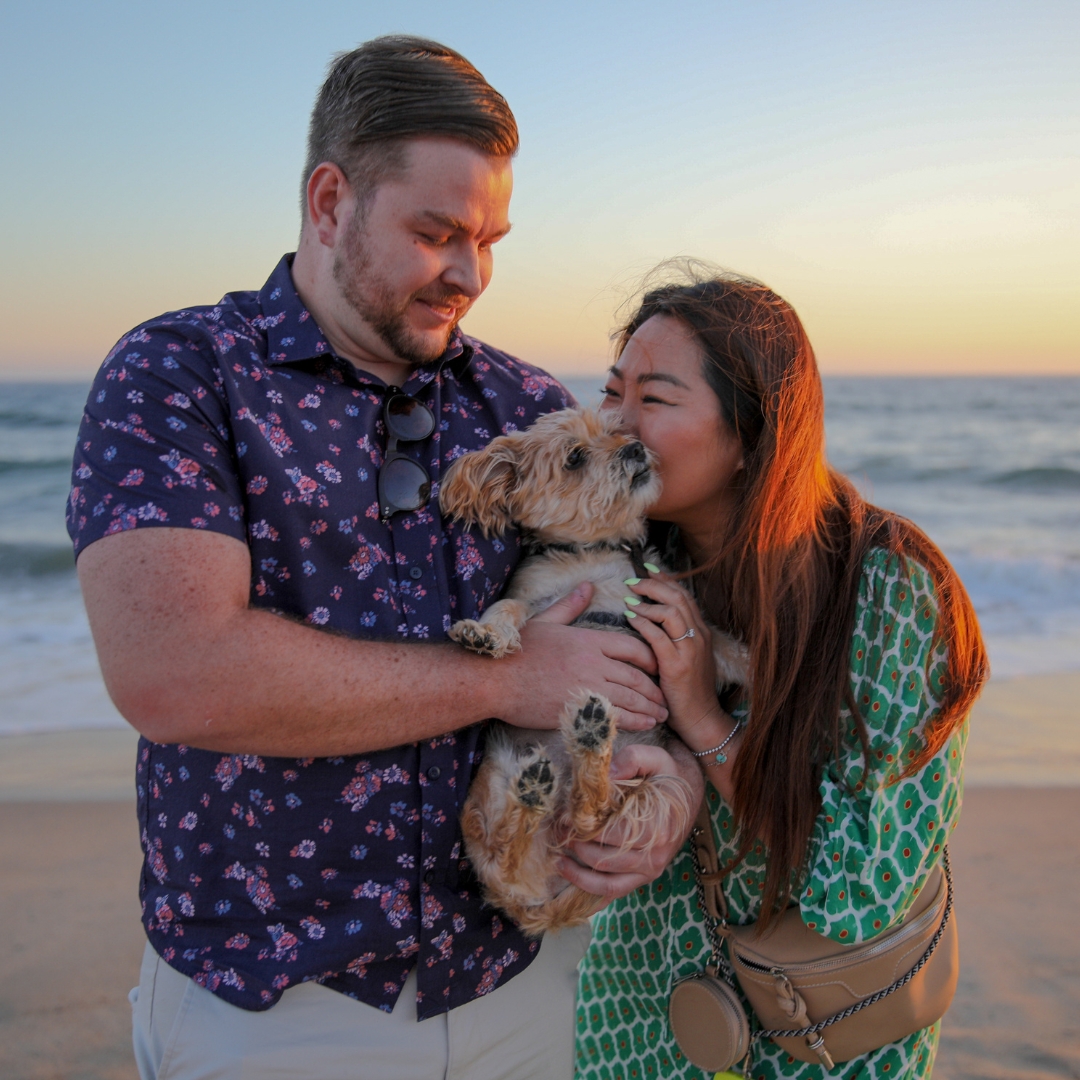
<path fill-rule="evenodd" d="M 822 777 L 799 897 L 807 927 L 834 941 L 856 944 L 900 919 L 959 818 L 967 721 L 922 769 L 897 780 L 903 764 L 917 756 L 944 689 L 946 652 L 933 640 L 936 622 L 926 570 L 870 552 L 851 643 L 851 689 L 869 759 L 846 707 L 846 748 Z"/>

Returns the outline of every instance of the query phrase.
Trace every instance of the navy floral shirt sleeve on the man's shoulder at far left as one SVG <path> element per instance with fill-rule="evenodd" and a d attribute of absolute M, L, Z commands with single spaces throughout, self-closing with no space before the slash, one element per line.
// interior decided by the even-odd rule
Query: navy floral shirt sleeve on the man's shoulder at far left
<path fill-rule="evenodd" d="M 211 336 L 194 320 L 132 332 L 97 373 L 79 429 L 67 507 L 76 554 L 154 526 L 244 540 L 235 454 Z"/>

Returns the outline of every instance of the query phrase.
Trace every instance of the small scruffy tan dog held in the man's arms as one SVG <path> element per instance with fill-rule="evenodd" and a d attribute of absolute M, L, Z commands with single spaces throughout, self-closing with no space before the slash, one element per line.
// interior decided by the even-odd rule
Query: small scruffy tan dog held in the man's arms
<path fill-rule="evenodd" d="M 440 492 L 443 512 L 485 535 L 518 525 L 529 552 L 505 597 L 480 620 L 455 623 L 454 640 L 496 659 L 516 651 L 522 626 L 583 581 L 594 592 L 575 624 L 633 633 L 625 580 L 644 575 L 643 558 L 659 563 L 642 545 L 660 478 L 646 447 L 618 424 L 612 413 L 565 409 L 454 463 Z M 743 647 L 716 631 L 713 640 L 718 683 L 744 683 Z M 618 731 L 610 702 L 588 691 L 570 698 L 558 730 L 496 724 L 461 816 L 486 899 L 530 935 L 584 922 L 604 901 L 555 872 L 570 842 L 594 840 L 618 820 L 629 826 L 624 846 L 639 847 L 693 818 L 690 787 L 678 777 L 610 777 L 621 746 L 672 738 L 663 725 Z"/>

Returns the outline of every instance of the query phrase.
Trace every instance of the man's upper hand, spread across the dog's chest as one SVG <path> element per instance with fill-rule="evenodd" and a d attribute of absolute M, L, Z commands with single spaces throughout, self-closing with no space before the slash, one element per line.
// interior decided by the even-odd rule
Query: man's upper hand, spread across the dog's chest
<path fill-rule="evenodd" d="M 619 727 L 644 731 L 667 718 L 652 650 L 632 634 L 571 626 L 593 594 L 589 582 L 553 604 L 522 629 L 522 650 L 490 661 L 502 689 L 492 714 L 523 728 L 558 727 L 576 690 L 602 693 L 617 710 Z"/>

